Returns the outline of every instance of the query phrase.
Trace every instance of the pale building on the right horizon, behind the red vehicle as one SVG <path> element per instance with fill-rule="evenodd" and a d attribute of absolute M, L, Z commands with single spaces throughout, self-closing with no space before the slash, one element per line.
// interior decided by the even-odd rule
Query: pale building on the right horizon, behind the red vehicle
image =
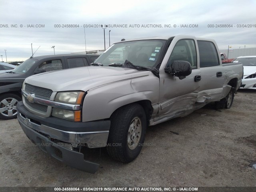
<path fill-rule="evenodd" d="M 229 48 L 229 52 L 227 49 L 220 50 L 220 53 L 225 53 L 229 59 L 237 58 L 239 56 L 249 56 L 249 55 L 256 55 L 256 48 L 243 48 L 240 49 L 232 49 Z"/>

